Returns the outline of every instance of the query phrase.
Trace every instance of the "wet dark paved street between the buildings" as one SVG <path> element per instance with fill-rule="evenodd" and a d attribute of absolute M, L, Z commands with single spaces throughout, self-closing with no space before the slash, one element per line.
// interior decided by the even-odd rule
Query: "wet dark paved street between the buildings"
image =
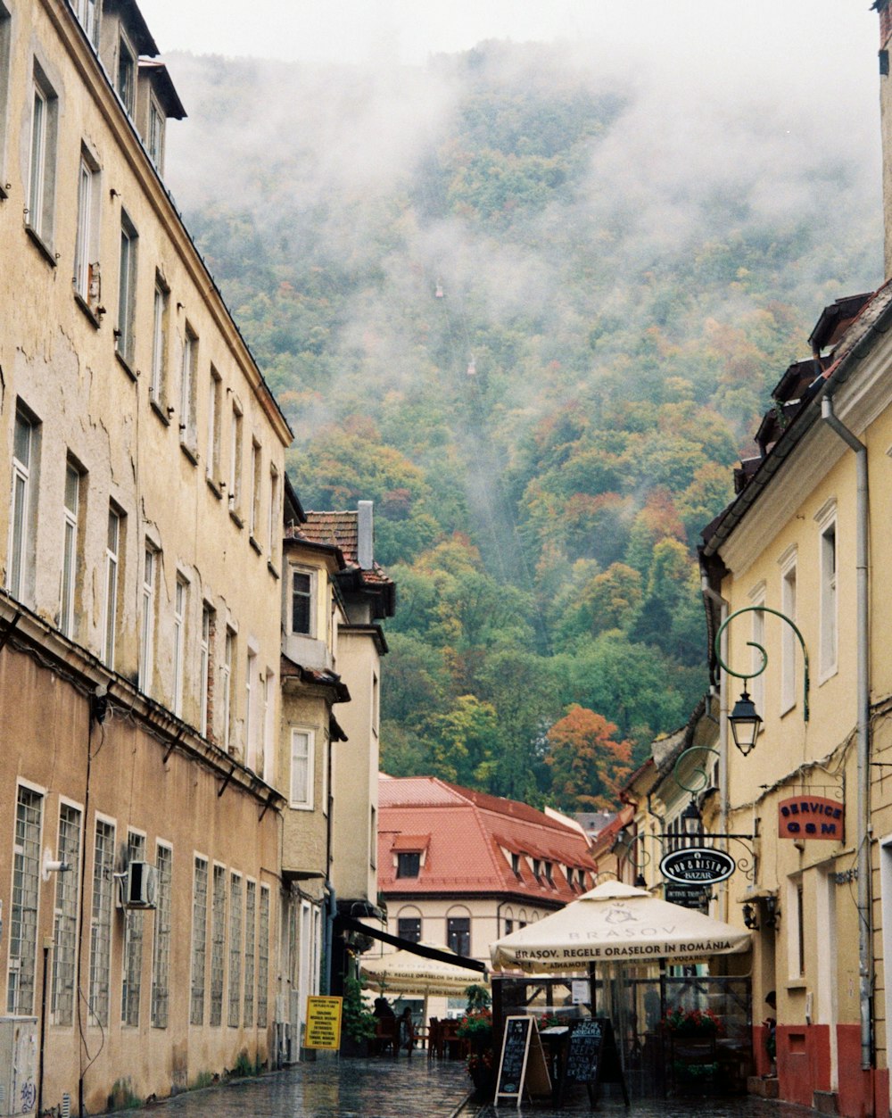
<path fill-rule="evenodd" d="M 408 1060 L 320 1058 L 285 1071 L 222 1087 L 189 1091 L 159 1102 L 164 1118 L 566 1118 L 591 1114 L 581 1088 L 562 1110 L 525 1102 L 519 1110 L 468 1100 L 471 1081 L 461 1061 L 428 1061 L 424 1052 Z M 633 1100 L 628 1110 L 613 1088 L 605 1088 L 597 1114 L 635 1118 L 807 1118 L 817 1111 L 758 1098 Z"/>

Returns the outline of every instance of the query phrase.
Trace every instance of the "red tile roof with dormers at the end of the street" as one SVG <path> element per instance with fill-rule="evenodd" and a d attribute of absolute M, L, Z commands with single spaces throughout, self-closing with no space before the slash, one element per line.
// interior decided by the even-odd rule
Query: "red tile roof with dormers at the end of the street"
<path fill-rule="evenodd" d="M 397 879 L 393 855 L 407 850 L 407 836 L 419 835 L 429 841 L 418 877 Z M 533 860 L 540 863 L 538 879 Z M 572 884 L 567 866 L 575 871 Z M 585 835 L 529 804 L 436 777 L 381 776 L 378 783 L 378 887 L 386 897 L 499 894 L 559 908 L 590 888 L 595 870 Z"/>

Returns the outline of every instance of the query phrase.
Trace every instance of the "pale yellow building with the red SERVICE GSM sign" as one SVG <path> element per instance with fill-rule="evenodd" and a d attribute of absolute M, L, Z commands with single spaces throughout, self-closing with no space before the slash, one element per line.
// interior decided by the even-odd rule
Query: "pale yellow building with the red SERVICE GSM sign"
<path fill-rule="evenodd" d="M 890 321 L 888 288 L 825 310 L 702 549 L 721 675 L 715 819 L 758 835 L 755 873 L 731 880 L 720 915 L 755 926 L 753 1018 L 777 1017 L 780 1097 L 843 1115 L 890 1102 Z M 746 755 L 728 722 L 744 686 L 762 719 Z M 769 1073 L 762 1038 L 757 1051 Z"/>

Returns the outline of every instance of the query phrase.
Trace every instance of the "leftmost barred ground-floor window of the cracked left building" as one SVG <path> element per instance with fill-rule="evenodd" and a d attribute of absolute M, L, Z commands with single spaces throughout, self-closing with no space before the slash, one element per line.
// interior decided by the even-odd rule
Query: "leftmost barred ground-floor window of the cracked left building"
<path fill-rule="evenodd" d="M 37 902 L 40 889 L 40 825 L 44 797 L 19 785 L 16 796 L 16 845 L 9 911 L 7 1013 L 35 1012 Z"/>

